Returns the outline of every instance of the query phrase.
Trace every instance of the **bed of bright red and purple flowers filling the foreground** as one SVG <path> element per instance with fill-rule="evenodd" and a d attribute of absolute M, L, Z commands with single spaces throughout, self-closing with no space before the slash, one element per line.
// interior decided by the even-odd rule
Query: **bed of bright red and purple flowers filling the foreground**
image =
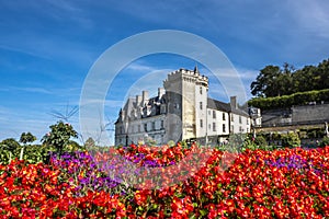
<path fill-rule="evenodd" d="M 50 164 L 14 160 L 0 165 L 0 217 L 325 218 L 329 147 L 234 154 L 131 146 Z"/>

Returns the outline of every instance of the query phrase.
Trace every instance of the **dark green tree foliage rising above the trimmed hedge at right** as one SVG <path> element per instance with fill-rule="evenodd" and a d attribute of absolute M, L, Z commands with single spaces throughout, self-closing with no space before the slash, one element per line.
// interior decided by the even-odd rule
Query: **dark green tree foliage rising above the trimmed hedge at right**
<path fill-rule="evenodd" d="M 251 94 L 259 97 L 290 95 L 297 92 L 329 88 L 329 59 L 318 66 L 296 70 L 292 65 L 283 68 L 266 66 L 250 85 Z"/>

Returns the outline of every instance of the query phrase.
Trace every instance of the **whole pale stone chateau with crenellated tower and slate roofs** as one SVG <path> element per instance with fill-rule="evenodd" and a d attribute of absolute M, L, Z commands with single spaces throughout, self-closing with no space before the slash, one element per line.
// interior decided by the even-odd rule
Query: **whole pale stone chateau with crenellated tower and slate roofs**
<path fill-rule="evenodd" d="M 179 69 L 168 74 L 158 95 L 147 91 L 129 97 L 115 123 L 115 145 L 155 140 L 197 140 L 219 143 L 230 134 L 250 132 L 251 118 L 239 108 L 236 96 L 230 103 L 208 97 L 208 78 Z"/>

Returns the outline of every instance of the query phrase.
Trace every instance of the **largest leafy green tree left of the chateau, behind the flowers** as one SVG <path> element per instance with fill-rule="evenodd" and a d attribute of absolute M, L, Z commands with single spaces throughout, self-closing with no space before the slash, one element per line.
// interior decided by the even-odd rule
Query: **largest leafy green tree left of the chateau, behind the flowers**
<path fill-rule="evenodd" d="M 50 132 L 46 134 L 42 142 L 48 146 L 54 146 L 61 154 L 63 148 L 68 146 L 71 141 L 70 138 L 78 138 L 78 132 L 68 123 L 61 120 L 55 125 L 49 126 Z"/>

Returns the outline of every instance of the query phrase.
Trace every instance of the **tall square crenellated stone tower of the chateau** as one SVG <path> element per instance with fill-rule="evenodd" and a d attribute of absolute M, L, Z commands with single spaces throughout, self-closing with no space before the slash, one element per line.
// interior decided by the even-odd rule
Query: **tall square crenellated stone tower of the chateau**
<path fill-rule="evenodd" d="M 193 139 L 206 136 L 208 78 L 180 69 L 163 81 L 167 95 L 167 140 Z"/>

